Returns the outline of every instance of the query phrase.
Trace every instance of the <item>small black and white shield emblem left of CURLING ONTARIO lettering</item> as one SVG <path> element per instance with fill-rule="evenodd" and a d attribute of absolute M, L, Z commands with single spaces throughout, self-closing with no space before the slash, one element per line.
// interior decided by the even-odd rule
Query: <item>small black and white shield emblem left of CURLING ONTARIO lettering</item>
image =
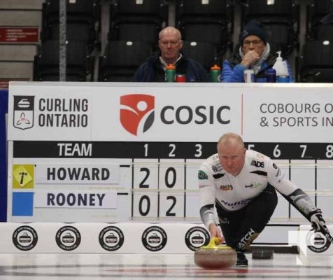
<path fill-rule="evenodd" d="M 14 96 L 14 127 L 27 130 L 34 126 L 34 99 L 34 96 Z"/>

